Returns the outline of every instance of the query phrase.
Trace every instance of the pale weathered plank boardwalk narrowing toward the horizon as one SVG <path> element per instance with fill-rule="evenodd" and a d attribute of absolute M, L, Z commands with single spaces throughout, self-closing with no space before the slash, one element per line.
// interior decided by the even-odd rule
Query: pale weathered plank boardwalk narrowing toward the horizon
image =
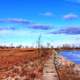
<path fill-rule="evenodd" d="M 52 54 L 44 64 L 43 80 L 59 80 L 55 69 L 55 65 L 53 63 L 54 63 L 54 54 Z"/>

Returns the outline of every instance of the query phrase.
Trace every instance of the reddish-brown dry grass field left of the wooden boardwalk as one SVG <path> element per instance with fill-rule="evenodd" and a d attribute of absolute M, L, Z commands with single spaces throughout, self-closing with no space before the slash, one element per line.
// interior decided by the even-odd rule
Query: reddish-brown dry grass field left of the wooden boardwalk
<path fill-rule="evenodd" d="M 46 54 L 39 55 L 36 48 L 0 49 L 0 80 L 42 80 L 43 64 L 49 55 L 43 52 Z"/>

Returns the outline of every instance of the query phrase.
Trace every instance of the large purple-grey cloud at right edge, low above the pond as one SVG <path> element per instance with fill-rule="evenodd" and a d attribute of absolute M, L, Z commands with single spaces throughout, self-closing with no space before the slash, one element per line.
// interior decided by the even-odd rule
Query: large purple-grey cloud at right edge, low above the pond
<path fill-rule="evenodd" d="M 80 34 L 79 27 L 68 27 L 64 29 L 59 29 L 58 31 L 50 32 L 50 34 L 69 34 L 69 35 L 78 35 Z"/>

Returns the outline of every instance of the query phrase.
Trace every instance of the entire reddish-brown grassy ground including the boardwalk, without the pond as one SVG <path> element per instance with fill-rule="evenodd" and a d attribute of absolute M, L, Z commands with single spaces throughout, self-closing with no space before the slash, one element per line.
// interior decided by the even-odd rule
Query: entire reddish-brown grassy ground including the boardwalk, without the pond
<path fill-rule="evenodd" d="M 80 80 L 80 65 L 56 57 L 55 69 L 51 56 L 45 48 L 0 49 L 0 80 Z"/>

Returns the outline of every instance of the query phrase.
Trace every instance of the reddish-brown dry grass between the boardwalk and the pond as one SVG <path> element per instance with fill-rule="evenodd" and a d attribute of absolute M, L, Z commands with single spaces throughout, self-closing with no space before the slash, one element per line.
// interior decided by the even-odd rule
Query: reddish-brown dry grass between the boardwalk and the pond
<path fill-rule="evenodd" d="M 63 62 L 61 62 L 62 64 Z M 57 66 L 60 80 L 80 80 L 80 65 L 64 60 L 63 65 Z"/>

